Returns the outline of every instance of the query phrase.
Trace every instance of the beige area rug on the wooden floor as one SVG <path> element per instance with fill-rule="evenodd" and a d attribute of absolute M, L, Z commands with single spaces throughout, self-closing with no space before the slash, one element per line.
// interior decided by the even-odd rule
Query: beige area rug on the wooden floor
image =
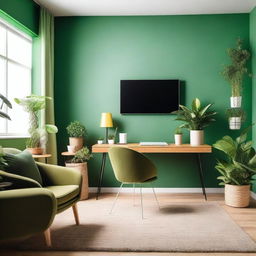
<path fill-rule="evenodd" d="M 161 204 L 161 202 L 160 202 Z M 112 200 L 78 204 L 80 226 L 74 225 L 72 210 L 56 216 L 52 225 L 53 250 L 142 251 L 142 252 L 255 252 L 256 244 L 213 202 L 165 203 L 145 200 L 140 205 Z M 43 235 L 9 244 L 12 249 L 46 250 Z"/>

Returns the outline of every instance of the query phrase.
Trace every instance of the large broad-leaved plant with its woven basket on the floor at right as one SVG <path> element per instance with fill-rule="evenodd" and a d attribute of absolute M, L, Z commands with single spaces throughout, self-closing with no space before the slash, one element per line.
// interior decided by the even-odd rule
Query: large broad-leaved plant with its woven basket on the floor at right
<path fill-rule="evenodd" d="M 251 127 L 249 127 L 251 128 Z M 225 186 L 225 203 L 233 207 L 247 207 L 250 201 L 250 184 L 256 173 L 256 155 L 252 141 L 247 141 L 249 128 L 235 140 L 224 136 L 213 147 L 222 151 L 225 159 L 217 160 L 215 168 L 221 174 L 219 185 Z"/>

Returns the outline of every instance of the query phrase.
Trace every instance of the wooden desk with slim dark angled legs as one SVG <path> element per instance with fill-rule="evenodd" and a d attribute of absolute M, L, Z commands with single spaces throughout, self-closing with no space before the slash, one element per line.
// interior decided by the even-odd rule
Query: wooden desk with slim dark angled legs
<path fill-rule="evenodd" d="M 202 192 L 204 194 L 205 200 L 207 200 L 206 192 L 205 192 L 205 185 L 203 179 L 203 169 L 202 169 L 202 162 L 201 162 L 201 153 L 211 153 L 212 147 L 210 145 L 200 145 L 200 146 L 191 146 L 190 144 L 182 144 L 180 146 L 176 146 L 175 144 L 168 144 L 167 146 L 140 146 L 139 143 L 128 143 L 128 144 L 95 144 L 92 146 L 93 153 L 102 153 L 102 161 L 101 161 L 101 168 L 99 173 L 99 180 L 98 180 L 98 190 L 96 199 L 98 199 L 101 191 L 101 184 L 102 178 L 105 169 L 106 163 L 106 155 L 110 147 L 126 147 L 132 150 L 135 150 L 140 153 L 193 153 L 197 156 L 197 163 L 198 163 L 198 171 L 199 177 L 202 186 Z"/>

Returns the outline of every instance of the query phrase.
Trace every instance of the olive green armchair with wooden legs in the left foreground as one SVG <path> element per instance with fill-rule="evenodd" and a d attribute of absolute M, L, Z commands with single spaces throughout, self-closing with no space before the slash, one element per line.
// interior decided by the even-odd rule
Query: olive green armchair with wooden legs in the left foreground
<path fill-rule="evenodd" d="M 17 154 L 17 149 L 4 148 L 5 153 Z M 56 214 L 72 207 L 79 225 L 76 203 L 81 192 L 82 176 L 72 168 L 36 162 L 42 177 L 37 181 L 1 171 L 3 181 L 14 189 L 0 191 L 0 240 L 33 235 L 44 231 L 46 244 L 51 246 L 50 226 Z"/>

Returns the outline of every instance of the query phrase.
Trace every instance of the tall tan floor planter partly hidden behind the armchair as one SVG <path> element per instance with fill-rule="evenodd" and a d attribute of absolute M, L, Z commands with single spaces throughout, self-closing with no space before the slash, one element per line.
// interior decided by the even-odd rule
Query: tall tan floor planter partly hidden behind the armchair
<path fill-rule="evenodd" d="M 80 200 L 88 199 L 89 197 L 89 183 L 88 183 L 88 168 L 87 163 L 65 163 L 66 167 L 74 168 L 82 174 L 82 187 Z"/>

